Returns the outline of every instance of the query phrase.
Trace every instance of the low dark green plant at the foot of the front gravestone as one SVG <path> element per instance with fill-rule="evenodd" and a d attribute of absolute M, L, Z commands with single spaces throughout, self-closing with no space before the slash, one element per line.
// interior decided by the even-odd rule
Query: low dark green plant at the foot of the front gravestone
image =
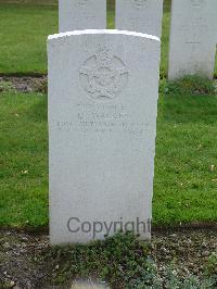
<path fill-rule="evenodd" d="M 149 244 L 130 233 L 117 234 L 88 246 L 56 247 L 51 252 L 56 264 L 63 264 L 56 276 L 58 281 L 63 276 L 65 280 L 72 276 L 84 279 L 92 276 L 108 280 L 113 288 L 137 288 L 138 281 L 143 286 L 153 284 L 156 267 L 149 253 Z"/>

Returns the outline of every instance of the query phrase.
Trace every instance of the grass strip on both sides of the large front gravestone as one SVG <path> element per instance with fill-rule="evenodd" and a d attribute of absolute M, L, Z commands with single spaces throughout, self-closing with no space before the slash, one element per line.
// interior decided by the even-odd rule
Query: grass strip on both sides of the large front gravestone
<path fill-rule="evenodd" d="M 48 225 L 47 97 L 0 93 L 0 225 Z M 158 104 L 155 225 L 217 221 L 217 97 Z"/>

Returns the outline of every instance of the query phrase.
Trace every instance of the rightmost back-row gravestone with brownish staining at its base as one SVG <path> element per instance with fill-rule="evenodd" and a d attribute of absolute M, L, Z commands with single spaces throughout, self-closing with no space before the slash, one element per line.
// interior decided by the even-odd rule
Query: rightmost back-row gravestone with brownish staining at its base
<path fill-rule="evenodd" d="M 195 74 L 213 78 L 216 12 L 216 0 L 173 0 L 169 80 Z"/>

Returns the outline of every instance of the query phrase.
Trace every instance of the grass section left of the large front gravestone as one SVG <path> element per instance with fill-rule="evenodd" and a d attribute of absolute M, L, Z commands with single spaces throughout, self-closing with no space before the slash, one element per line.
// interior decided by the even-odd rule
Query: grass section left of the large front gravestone
<path fill-rule="evenodd" d="M 0 225 L 48 223 L 47 101 L 0 93 Z"/>

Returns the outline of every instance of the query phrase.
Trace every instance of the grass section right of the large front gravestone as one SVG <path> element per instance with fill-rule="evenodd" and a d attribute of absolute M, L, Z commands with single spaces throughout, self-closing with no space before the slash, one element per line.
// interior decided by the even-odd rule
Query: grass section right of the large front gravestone
<path fill-rule="evenodd" d="M 217 98 L 161 98 L 155 224 L 217 221 Z"/>

